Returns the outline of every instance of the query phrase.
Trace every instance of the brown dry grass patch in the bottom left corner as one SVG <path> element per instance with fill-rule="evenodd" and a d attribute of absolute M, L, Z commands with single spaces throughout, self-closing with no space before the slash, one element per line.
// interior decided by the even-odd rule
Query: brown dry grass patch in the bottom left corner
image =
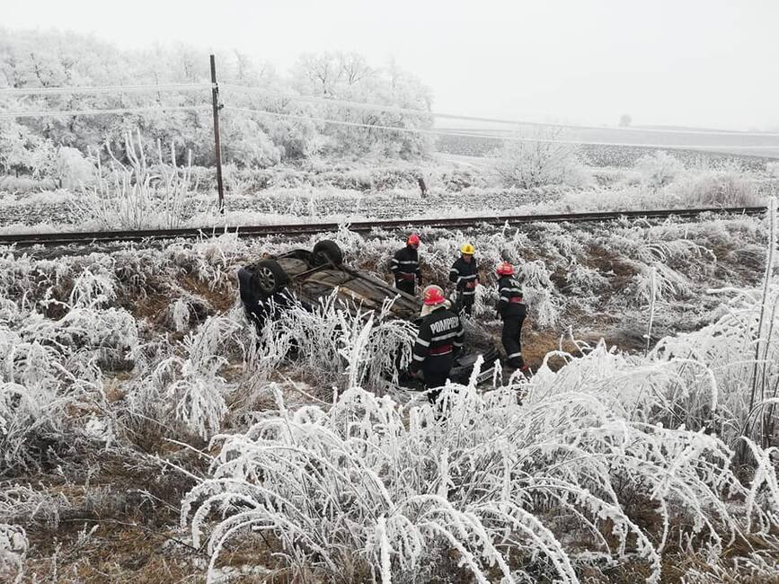
<path fill-rule="evenodd" d="M 190 472 L 203 462 L 162 436 L 138 447 Z M 152 456 L 131 452 L 78 453 L 55 473 L 19 477 L 57 503 L 58 518 L 26 523 L 31 549 L 25 581 L 204 581 L 206 559 L 178 533 L 181 496 L 191 480 Z M 94 529 L 94 531 L 93 531 Z"/>

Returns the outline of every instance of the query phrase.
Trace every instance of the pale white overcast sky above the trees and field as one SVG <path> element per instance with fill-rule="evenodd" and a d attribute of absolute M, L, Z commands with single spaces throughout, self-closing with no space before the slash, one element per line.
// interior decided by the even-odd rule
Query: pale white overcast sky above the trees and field
<path fill-rule="evenodd" d="M 436 111 L 571 123 L 779 128 L 779 0 L 0 0 L 0 24 L 120 47 L 394 58 Z"/>

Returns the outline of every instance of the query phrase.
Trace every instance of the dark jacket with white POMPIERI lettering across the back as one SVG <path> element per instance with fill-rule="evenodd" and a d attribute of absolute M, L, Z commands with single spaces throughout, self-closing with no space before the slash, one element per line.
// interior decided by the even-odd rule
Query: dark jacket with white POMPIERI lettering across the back
<path fill-rule="evenodd" d="M 420 367 L 448 370 L 454 363 L 454 353 L 463 346 L 463 323 L 460 317 L 448 308 L 425 316 L 420 324 L 420 332 L 414 342 L 412 371 Z"/>

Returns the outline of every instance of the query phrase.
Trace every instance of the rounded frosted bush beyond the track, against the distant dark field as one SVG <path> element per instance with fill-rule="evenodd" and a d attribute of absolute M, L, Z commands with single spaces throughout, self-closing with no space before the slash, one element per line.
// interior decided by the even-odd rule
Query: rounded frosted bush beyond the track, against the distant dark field
<path fill-rule="evenodd" d="M 507 140 L 497 153 L 495 172 L 505 186 L 518 189 L 580 187 L 589 182 L 576 148 L 559 141 L 559 133 L 548 131 L 527 141 Z"/>

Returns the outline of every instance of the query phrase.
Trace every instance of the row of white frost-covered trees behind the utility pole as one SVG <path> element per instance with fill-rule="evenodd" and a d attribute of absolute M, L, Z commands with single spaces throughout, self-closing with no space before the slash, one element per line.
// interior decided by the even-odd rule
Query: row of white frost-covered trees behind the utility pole
<path fill-rule="evenodd" d="M 429 92 L 411 75 L 370 66 L 355 53 L 305 54 L 288 75 L 277 74 L 265 63 L 241 52 L 217 53 L 219 81 L 257 87 L 278 93 L 314 95 L 332 99 L 376 102 L 419 110 L 416 114 L 360 111 L 303 103 L 261 93 L 222 92 L 227 106 L 243 111 L 223 112 L 222 144 L 235 164 L 268 166 L 284 159 L 314 154 L 357 154 L 414 157 L 429 152 L 428 137 L 383 129 L 341 127 L 303 116 L 356 122 L 367 126 L 429 128 Z M 156 46 L 145 50 L 120 50 L 93 37 L 57 31 L 0 30 L 0 88 L 55 87 L 68 85 L 137 85 L 208 83 L 208 52 L 186 45 Z M 155 105 L 160 110 L 127 115 L 23 118 L 4 124 L 0 135 L 0 170 L 5 173 L 38 173 L 50 176 L 57 169 L 59 147 L 86 154 L 108 140 L 120 139 L 139 128 L 144 144 L 154 150 L 157 140 L 173 143 L 179 156 L 188 152 L 193 163 L 214 164 L 211 112 L 165 111 L 165 106 L 208 106 L 203 91 L 155 91 L 141 93 L 78 93 L 24 96 L 13 109 L 75 110 L 121 109 Z M 253 114 L 261 110 L 282 114 Z M 13 127 L 13 129 L 12 129 Z M 9 128 L 6 130 L 6 128 Z M 256 141 L 256 144 L 252 142 Z M 49 145 L 49 156 L 41 149 Z M 41 162 L 45 160 L 48 164 Z"/>

